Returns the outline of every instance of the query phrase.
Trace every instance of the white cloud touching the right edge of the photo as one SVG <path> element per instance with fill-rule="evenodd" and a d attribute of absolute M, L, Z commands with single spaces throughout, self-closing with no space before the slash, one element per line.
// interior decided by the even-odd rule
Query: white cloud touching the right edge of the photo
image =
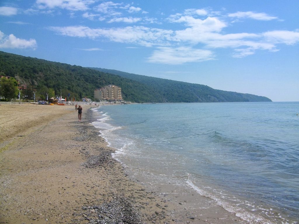
<path fill-rule="evenodd" d="M 263 33 L 263 36 L 268 41 L 273 43 L 283 43 L 287 45 L 293 45 L 299 42 L 299 32 L 287 31 L 287 30 L 274 30 Z"/>

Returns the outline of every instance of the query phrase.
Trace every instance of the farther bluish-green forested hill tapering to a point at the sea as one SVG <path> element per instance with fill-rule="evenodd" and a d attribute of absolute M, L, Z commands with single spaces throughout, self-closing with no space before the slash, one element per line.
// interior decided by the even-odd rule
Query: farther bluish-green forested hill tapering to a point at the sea
<path fill-rule="evenodd" d="M 207 85 L 142 76 L 112 69 L 89 68 L 143 83 L 159 92 L 165 102 L 271 102 L 271 99 L 265 96 L 216 90 Z"/>

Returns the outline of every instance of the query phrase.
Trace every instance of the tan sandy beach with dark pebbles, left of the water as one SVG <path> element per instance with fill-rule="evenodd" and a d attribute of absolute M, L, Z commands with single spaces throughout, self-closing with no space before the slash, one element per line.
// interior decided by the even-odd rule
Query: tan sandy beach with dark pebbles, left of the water
<path fill-rule="evenodd" d="M 0 223 L 192 222 L 130 180 L 88 108 L 0 106 Z"/>

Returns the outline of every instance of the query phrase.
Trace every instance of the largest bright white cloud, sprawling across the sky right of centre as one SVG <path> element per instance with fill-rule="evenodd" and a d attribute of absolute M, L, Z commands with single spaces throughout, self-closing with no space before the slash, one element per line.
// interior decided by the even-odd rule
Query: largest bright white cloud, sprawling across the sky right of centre
<path fill-rule="evenodd" d="M 190 11 L 189 11 L 190 12 Z M 186 13 L 186 12 L 185 12 Z M 201 43 L 209 48 L 232 48 L 234 57 L 245 57 L 254 54 L 256 50 L 277 51 L 273 41 L 266 41 L 263 34 L 255 33 L 229 33 L 222 34 L 227 26 L 225 22 L 216 17 L 196 19 L 193 16 L 172 15 L 170 22 L 183 23 L 188 28 L 177 30 L 173 40 L 176 42 L 190 42 L 193 45 Z M 270 37 L 271 35 L 268 34 Z M 296 35 L 289 35 L 295 36 Z M 273 37 L 273 35 L 272 35 Z M 280 36 L 281 37 L 281 36 Z M 294 40 L 290 38 L 290 40 Z M 269 38 L 270 39 L 270 38 Z"/>

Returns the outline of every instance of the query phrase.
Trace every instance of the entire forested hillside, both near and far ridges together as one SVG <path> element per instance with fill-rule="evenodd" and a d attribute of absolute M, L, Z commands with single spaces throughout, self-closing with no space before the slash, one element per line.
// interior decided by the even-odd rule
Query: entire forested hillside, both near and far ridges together
<path fill-rule="evenodd" d="M 94 89 L 117 85 L 132 102 L 254 102 L 262 96 L 215 90 L 206 85 L 178 82 L 116 70 L 85 68 L 0 51 L 0 75 L 11 76 L 28 89 L 51 88 L 55 95 L 93 99 Z M 42 91 L 41 91 L 42 92 Z M 41 94 L 41 97 L 45 97 Z"/>

